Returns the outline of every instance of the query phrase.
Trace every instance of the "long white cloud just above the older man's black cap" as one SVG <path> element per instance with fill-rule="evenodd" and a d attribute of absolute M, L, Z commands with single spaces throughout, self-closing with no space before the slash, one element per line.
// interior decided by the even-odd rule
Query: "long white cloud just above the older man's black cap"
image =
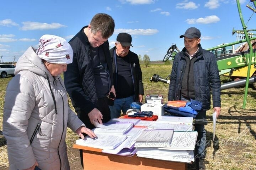
<path fill-rule="evenodd" d="M 130 35 L 153 35 L 158 33 L 157 29 L 116 29 L 114 31 L 115 34 L 119 33 L 128 33 Z"/>

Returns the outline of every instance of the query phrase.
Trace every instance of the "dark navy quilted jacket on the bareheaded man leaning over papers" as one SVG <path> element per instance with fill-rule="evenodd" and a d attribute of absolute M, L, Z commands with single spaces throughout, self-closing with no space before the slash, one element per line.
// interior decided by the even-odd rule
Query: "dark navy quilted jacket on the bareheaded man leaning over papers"
<path fill-rule="evenodd" d="M 90 43 L 84 33 L 83 27 L 74 38 L 69 41 L 74 56 L 73 63 L 68 64 L 67 71 L 64 72 L 64 83 L 76 110 L 89 113 L 97 108 L 97 92 L 94 79 L 93 58 L 91 57 Z M 108 41 L 98 48 L 102 48 L 105 53 L 107 67 L 110 72 L 111 86 L 113 85 L 113 74 Z M 110 90 L 110 89 L 109 89 Z"/>

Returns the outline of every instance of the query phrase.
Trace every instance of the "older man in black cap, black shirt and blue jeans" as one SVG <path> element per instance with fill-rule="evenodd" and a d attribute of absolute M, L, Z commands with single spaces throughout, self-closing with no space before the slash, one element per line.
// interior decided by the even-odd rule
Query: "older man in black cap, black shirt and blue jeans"
<path fill-rule="evenodd" d="M 111 118 L 118 118 L 121 111 L 126 113 L 132 102 L 143 100 L 144 89 L 139 58 L 130 51 L 130 46 L 132 36 L 120 33 L 117 35 L 115 47 L 110 49 L 116 90 L 116 99 L 109 103 Z"/>

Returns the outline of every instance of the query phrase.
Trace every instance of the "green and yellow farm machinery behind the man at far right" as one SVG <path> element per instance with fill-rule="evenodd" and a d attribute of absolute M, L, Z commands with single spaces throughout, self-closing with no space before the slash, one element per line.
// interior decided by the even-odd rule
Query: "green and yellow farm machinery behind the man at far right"
<path fill-rule="evenodd" d="M 250 0 L 251 5 L 247 4 L 250 10 L 256 13 L 256 0 Z M 229 83 L 223 83 L 221 85 L 221 90 L 230 89 L 233 87 L 239 87 L 245 85 L 245 94 L 244 94 L 244 103 L 243 109 L 246 105 L 246 97 L 248 92 L 249 84 L 253 84 L 256 89 L 256 36 L 254 37 L 253 31 L 256 29 L 246 29 L 244 19 L 241 14 L 240 2 L 236 0 L 238 6 L 238 12 L 242 24 L 242 30 L 234 30 L 232 35 L 235 33 L 243 35 L 239 41 L 231 42 L 228 44 L 221 44 L 210 49 L 206 49 L 215 54 L 218 69 L 220 75 L 228 76 L 232 80 Z M 238 48 L 234 48 L 234 45 L 240 46 Z M 175 55 L 180 52 L 176 44 L 172 45 L 168 50 L 166 55 L 164 56 L 163 62 L 173 60 Z M 150 81 L 158 82 L 161 81 L 163 83 L 170 83 L 170 75 L 164 79 L 161 78 L 158 74 L 154 74 L 153 77 L 150 78 Z"/>

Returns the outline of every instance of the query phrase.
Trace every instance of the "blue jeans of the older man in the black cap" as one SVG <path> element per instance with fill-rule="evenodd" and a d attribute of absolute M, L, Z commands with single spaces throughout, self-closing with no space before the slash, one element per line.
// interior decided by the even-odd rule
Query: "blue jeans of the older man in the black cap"
<path fill-rule="evenodd" d="M 110 108 L 110 115 L 111 119 L 118 118 L 121 115 L 121 111 L 126 113 L 127 110 L 130 108 L 130 104 L 134 102 L 133 96 L 126 97 L 126 98 L 116 98 L 114 100 L 113 106 L 108 106 Z"/>

